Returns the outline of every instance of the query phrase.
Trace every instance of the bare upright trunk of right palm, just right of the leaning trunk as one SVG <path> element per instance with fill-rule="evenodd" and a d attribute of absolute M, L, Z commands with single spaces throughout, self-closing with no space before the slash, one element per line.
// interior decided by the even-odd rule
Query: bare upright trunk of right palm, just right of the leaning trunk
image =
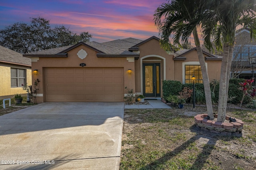
<path fill-rule="evenodd" d="M 224 122 L 226 119 L 226 88 L 227 88 L 227 72 L 228 72 L 228 55 L 229 55 L 229 45 L 224 43 L 223 57 L 220 70 L 220 90 L 219 90 L 219 104 L 218 104 L 218 122 Z"/>

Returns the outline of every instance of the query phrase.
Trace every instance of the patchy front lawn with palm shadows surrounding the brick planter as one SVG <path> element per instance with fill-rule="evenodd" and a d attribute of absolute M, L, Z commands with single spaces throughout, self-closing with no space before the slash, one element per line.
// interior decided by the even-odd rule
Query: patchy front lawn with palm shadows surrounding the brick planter
<path fill-rule="evenodd" d="M 125 109 L 120 169 L 256 170 L 256 111 L 227 109 L 244 121 L 242 137 L 201 131 L 200 113 L 206 107 Z"/>

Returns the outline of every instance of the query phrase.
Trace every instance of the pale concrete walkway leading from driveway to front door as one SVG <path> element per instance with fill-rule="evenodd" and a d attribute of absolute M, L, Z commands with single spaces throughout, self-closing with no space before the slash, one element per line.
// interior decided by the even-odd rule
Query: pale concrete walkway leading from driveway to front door
<path fill-rule="evenodd" d="M 150 105 L 125 105 L 125 109 L 171 109 L 172 107 L 168 106 L 161 102 L 161 100 L 147 100 Z"/>

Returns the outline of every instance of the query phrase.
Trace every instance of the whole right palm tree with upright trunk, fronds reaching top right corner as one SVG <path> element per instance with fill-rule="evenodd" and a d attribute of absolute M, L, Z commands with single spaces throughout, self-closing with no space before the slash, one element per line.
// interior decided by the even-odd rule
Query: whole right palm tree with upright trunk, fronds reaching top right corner
<path fill-rule="evenodd" d="M 256 38 L 254 0 L 212 0 L 204 3 L 208 18 L 203 22 L 204 44 L 212 49 L 211 38 L 217 50 L 223 49 L 218 101 L 218 119 L 226 119 L 229 74 L 234 50 L 236 28 L 239 25 L 250 28 L 251 38 Z"/>

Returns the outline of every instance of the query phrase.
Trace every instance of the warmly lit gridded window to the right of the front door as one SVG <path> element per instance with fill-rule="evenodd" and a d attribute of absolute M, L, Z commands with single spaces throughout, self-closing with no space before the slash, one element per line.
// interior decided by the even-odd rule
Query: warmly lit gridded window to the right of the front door
<path fill-rule="evenodd" d="M 200 65 L 185 65 L 185 83 L 193 83 L 192 76 L 195 76 L 195 83 L 203 83 L 203 76 Z"/>

